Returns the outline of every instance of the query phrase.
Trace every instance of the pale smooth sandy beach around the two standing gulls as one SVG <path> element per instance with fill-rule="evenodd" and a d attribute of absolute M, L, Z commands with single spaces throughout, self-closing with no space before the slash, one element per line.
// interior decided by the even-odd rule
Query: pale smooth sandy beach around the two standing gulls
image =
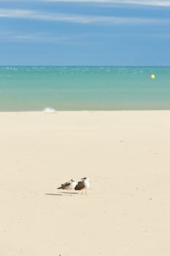
<path fill-rule="evenodd" d="M 0 113 L 1 256 L 170 255 L 170 111 Z M 56 188 L 88 176 L 88 195 Z"/>

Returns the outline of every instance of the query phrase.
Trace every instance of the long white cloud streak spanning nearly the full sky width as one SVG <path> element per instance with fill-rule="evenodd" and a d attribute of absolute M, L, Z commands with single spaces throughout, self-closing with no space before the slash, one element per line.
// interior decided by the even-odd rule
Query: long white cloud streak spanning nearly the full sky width
<path fill-rule="evenodd" d="M 55 12 L 36 12 L 32 10 L 9 10 L 0 9 L 0 18 L 20 18 L 30 20 L 61 21 L 69 23 L 105 23 L 116 24 L 139 24 L 139 23 L 167 23 L 167 19 L 154 18 L 124 18 L 114 16 L 93 16 L 93 15 L 69 15 Z"/>

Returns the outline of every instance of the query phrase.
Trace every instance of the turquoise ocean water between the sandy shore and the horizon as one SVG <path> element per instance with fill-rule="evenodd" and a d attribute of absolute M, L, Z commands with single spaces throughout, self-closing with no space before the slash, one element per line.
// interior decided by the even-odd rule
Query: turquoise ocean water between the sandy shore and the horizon
<path fill-rule="evenodd" d="M 0 67 L 0 111 L 169 109 L 170 67 Z"/>

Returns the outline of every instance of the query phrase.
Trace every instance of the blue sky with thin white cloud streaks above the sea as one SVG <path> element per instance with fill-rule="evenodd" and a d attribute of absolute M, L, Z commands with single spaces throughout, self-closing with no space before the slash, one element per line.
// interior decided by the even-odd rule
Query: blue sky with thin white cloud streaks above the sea
<path fill-rule="evenodd" d="M 0 0 L 0 65 L 170 66 L 170 0 Z"/>

